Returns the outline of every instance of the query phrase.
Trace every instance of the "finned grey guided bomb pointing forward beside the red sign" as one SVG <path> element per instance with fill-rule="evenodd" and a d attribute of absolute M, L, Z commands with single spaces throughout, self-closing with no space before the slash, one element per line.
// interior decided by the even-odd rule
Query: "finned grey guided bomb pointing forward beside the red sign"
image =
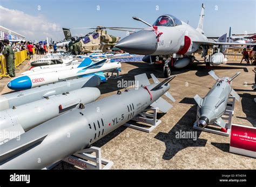
<path fill-rule="evenodd" d="M 226 131 L 226 123 L 221 116 L 224 114 L 228 102 L 228 97 L 232 95 L 239 101 L 240 96 L 235 92 L 231 85 L 235 77 L 240 74 L 240 71 L 233 77 L 218 77 L 214 71 L 208 72 L 216 81 L 211 90 L 202 99 L 200 96 L 194 96 L 199 106 L 198 126 L 205 128 L 209 124 L 215 124 L 221 127 L 221 131 Z"/>

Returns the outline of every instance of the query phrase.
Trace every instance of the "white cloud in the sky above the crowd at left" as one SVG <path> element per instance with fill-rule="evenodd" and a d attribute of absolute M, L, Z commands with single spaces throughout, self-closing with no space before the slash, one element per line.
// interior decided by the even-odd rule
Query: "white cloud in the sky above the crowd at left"
<path fill-rule="evenodd" d="M 0 5 L 0 24 L 20 33 L 26 40 L 42 40 L 48 37 L 53 40 L 64 38 L 62 28 L 49 22 L 43 15 L 32 16 L 23 11 L 11 10 Z M 57 32 L 60 31 L 60 32 Z"/>

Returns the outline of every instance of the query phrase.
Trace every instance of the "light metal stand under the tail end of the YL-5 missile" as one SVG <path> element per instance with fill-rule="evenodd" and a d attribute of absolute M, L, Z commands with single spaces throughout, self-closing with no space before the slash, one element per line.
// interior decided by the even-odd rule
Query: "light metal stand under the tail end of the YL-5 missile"
<path fill-rule="evenodd" d="M 153 111 L 153 113 L 147 113 L 148 111 Z M 157 109 L 156 108 L 148 108 L 144 112 L 139 113 L 136 117 L 132 118 L 131 120 L 141 122 L 143 125 L 149 127 L 142 127 L 138 125 L 133 125 L 126 123 L 124 126 L 134 128 L 136 130 L 140 130 L 143 132 L 150 133 L 154 128 L 156 128 L 160 123 L 161 120 L 157 119 Z"/>

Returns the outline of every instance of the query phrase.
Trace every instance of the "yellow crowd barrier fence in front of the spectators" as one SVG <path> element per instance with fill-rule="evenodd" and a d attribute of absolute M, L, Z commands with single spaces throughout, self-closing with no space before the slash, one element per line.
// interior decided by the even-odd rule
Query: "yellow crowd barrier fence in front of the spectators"
<path fill-rule="evenodd" d="M 33 54 L 35 54 L 35 49 L 33 48 Z M 25 60 L 29 59 L 29 54 L 27 50 L 20 52 L 15 52 L 15 68 L 18 68 Z M 4 55 L 0 55 L 0 77 L 9 77 L 6 70 L 6 60 Z"/>

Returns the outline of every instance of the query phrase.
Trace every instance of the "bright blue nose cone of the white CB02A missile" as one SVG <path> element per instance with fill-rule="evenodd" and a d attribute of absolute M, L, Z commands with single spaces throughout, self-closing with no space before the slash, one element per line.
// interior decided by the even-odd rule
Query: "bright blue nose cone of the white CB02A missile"
<path fill-rule="evenodd" d="M 26 90 L 32 87 L 32 82 L 28 76 L 21 76 L 11 80 L 7 86 L 11 90 Z"/>

